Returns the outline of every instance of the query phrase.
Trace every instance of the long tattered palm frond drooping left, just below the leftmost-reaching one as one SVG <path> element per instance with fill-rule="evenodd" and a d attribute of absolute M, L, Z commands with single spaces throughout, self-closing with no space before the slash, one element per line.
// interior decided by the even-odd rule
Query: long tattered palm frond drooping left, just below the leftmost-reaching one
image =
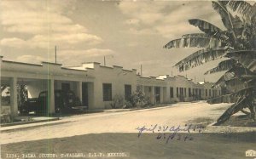
<path fill-rule="evenodd" d="M 211 60 L 217 60 L 226 54 L 227 48 L 204 48 L 199 51 L 196 51 L 193 54 L 190 54 L 183 60 L 180 60 L 175 65 L 179 71 L 189 70 L 198 65 L 202 65 Z"/>

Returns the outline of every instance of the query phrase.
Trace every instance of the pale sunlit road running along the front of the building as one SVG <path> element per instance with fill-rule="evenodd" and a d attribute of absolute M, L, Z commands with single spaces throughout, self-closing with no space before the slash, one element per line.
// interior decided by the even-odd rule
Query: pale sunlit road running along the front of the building
<path fill-rule="evenodd" d="M 227 104 L 208 105 L 205 102 L 180 103 L 148 110 L 69 116 L 61 119 L 66 121 L 62 124 L 1 133 L 1 144 L 89 133 L 137 133 L 136 128 L 143 125 L 178 126 L 197 118 L 216 121 L 227 106 Z"/>

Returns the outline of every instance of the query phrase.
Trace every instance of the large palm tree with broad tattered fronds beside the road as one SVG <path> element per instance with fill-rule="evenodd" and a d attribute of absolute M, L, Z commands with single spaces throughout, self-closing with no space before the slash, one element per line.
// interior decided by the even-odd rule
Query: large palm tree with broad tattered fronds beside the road
<path fill-rule="evenodd" d="M 198 27 L 203 33 L 183 35 L 167 43 L 164 48 L 202 48 L 177 62 L 175 66 L 179 71 L 222 57 L 227 58 L 205 73 L 225 71 L 212 87 L 227 88 L 230 96 L 236 97 L 236 103 L 218 118 L 218 124 L 238 111 L 250 114 L 255 120 L 256 3 L 251 5 L 246 1 L 216 1 L 212 2 L 212 8 L 220 15 L 226 30 L 223 31 L 205 20 L 192 19 L 189 24 Z M 250 112 L 244 111 L 244 108 L 249 108 Z"/>

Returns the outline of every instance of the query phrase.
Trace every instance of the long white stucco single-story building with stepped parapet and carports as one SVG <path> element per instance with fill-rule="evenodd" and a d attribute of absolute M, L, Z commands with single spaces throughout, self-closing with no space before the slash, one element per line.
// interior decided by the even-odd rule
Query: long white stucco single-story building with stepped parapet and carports
<path fill-rule="evenodd" d="M 8 61 L 0 56 L 0 65 L 1 89 L 8 86 L 10 98 L 9 103 L 2 102 L 1 110 L 10 111 L 12 116 L 18 115 L 16 86 L 19 84 L 26 84 L 30 98 L 37 98 L 40 92 L 48 90 L 49 113 L 55 113 L 55 89 L 72 90 L 90 110 L 111 108 L 115 94 L 126 98 L 137 87 L 152 104 L 208 99 L 213 94 L 221 94 L 220 88 L 210 87 L 211 83 L 198 84 L 183 76 L 141 77 L 137 76 L 137 70 L 125 70 L 118 65 L 102 66 L 96 62 L 63 67 L 49 62 L 35 65 Z M 211 93 L 206 94 L 206 91 Z"/>

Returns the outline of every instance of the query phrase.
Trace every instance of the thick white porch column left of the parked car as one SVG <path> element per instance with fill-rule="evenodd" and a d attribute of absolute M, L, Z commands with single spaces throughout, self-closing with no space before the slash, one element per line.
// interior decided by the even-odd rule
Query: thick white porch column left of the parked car
<path fill-rule="evenodd" d="M 12 77 L 10 80 L 10 105 L 11 116 L 18 116 L 18 101 L 17 101 L 17 77 Z"/>

